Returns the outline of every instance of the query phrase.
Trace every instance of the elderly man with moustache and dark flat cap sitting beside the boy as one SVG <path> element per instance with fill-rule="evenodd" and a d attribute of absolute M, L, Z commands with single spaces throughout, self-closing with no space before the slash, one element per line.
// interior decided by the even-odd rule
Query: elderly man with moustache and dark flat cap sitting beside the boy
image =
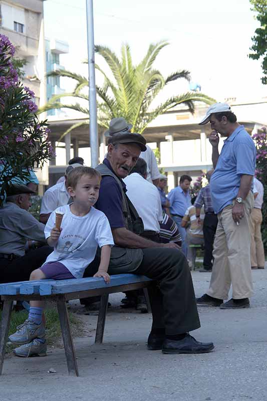
<path fill-rule="evenodd" d="M 107 158 L 96 167 L 102 175 L 96 207 L 106 214 L 116 244 L 108 272 L 145 275 L 160 282 L 160 288 L 153 285 L 149 289 L 153 323 L 148 349 L 173 354 L 209 352 L 213 343 L 199 343 L 188 334 L 200 323 L 186 258 L 174 243 L 158 244 L 140 236 L 142 224 L 125 193 L 123 178 L 145 151 L 145 143 L 139 134 L 114 134 L 109 139 Z M 98 263 L 99 258 L 89 266 L 89 275 L 94 274 Z"/>

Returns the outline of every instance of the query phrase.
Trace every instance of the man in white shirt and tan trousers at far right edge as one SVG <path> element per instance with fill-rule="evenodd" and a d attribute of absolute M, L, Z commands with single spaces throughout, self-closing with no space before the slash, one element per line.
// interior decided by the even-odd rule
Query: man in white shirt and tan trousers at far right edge
<path fill-rule="evenodd" d="M 251 269 L 264 269 L 265 257 L 262 244 L 260 225 L 262 223 L 261 206 L 263 203 L 264 188 L 262 183 L 254 177 L 253 179 L 254 208 L 251 210 L 250 225 L 250 259 Z"/>

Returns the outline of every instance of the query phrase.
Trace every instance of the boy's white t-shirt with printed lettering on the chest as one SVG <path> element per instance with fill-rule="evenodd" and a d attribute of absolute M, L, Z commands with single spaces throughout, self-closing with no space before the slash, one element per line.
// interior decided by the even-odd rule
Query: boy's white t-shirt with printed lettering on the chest
<path fill-rule="evenodd" d="M 85 268 L 94 260 L 97 246 L 114 245 L 109 221 L 105 214 L 93 207 L 86 216 L 75 216 L 70 205 L 60 206 L 51 213 L 45 227 L 46 239 L 55 227 L 56 212 L 64 213 L 61 234 L 45 263 L 60 262 L 76 278 L 83 277 Z"/>

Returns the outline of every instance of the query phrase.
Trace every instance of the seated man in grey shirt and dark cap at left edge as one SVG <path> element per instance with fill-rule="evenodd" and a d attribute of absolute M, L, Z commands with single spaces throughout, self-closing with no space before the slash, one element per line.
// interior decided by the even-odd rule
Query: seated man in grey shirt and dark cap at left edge
<path fill-rule="evenodd" d="M 46 243 L 44 224 L 28 212 L 32 193 L 26 185 L 11 185 L 7 203 L 0 209 L 0 283 L 29 280 L 53 251 L 43 246 L 25 254 L 28 239 Z"/>

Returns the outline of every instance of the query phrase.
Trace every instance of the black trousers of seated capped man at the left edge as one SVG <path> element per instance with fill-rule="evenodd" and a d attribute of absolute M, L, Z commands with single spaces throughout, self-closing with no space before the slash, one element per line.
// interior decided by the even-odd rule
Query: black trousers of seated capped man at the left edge
<path fill-rule="evenodd" d="M 13 260 L 0 259 L 0 283 L 29 280 L 32 271 L 41 267 L 51 252 L 52 247 L 44 246 Z"/>

